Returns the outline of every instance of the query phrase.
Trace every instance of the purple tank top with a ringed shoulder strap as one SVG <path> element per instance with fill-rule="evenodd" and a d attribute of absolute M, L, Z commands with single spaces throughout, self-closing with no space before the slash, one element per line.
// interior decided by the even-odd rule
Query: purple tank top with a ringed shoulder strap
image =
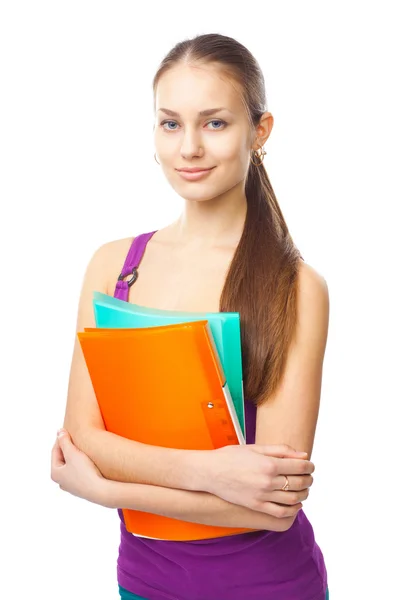
<path fill-rule="evenodd" d="M 115 298 L 129 301 L 129 288 L 154 233 L 133 240 Z M 248 400 L 245 417 L 247 442 L 252 444 L 256 408 Z M 134 536 L 125 527 L 122 511 L 118 514 L 117 578 L 133 594 L 148 600 L 325 600 L 324 557 L 303 510 L 285 532 L 255 531 L 190 542 Z"/>

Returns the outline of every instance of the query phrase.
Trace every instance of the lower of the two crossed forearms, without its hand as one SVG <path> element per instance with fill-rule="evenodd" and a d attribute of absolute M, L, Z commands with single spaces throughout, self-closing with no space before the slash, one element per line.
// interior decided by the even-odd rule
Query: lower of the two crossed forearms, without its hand
<path fill-rule="evenodd" d="M 106 482 L 105 506 L 130 508 L 191 523 L 218 527 L 238 527 L 286 531 L 296 519 L 301 505 L 280 506 L 282 517 L 231 504 L 206 492 L 188 492 L 153 485 Z"/>

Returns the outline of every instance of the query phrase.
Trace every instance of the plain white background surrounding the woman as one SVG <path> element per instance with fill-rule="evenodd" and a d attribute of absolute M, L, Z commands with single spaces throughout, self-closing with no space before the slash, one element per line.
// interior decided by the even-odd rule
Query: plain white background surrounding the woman
<path fill-rule="evenodd" d="M 117 513 L 60 491 L 50 450 L 90 256 L 183 206 L 153 157 L 152 77 L 175 43 L 213 32 L 263 69 L 267 171 L 329 286 L 304 510 L 331 598 L 400 597 L 396 4 L 1 3 L 1 598 L 118 597 Z"/>

